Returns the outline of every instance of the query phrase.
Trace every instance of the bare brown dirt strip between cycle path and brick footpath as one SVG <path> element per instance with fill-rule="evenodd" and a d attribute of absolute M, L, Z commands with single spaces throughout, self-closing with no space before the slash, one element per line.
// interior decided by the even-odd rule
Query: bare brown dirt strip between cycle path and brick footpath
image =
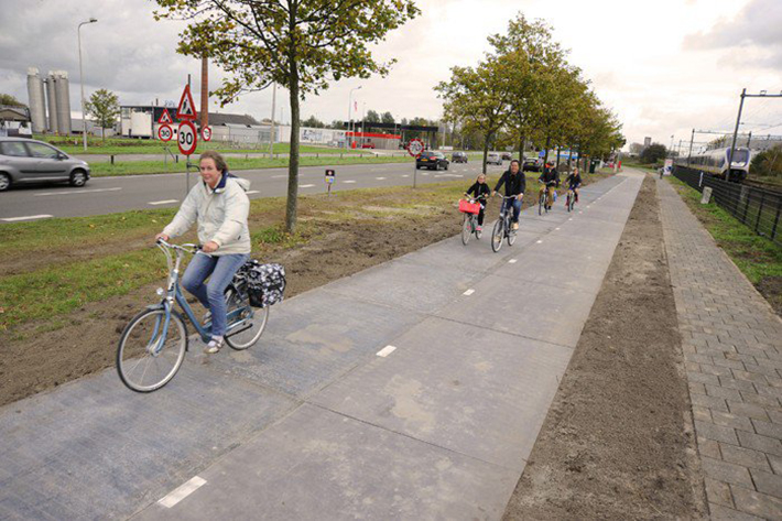
<path fill-rule="evenodd" d="M 659 211 L 647 176 L 506 520 L 705 515 Z"/>

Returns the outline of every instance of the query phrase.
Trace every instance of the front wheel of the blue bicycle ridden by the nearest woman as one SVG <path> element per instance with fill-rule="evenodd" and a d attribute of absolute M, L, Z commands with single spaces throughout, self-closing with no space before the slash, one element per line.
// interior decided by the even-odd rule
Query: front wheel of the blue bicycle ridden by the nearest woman
<path fill-rule="evenodd" d="M 187 327 L 172 312 L 145 310 L 124 328 L 117 348 L 117 372 L 129 389 L 152 392 L 174 378 L 187 350 Z"/>

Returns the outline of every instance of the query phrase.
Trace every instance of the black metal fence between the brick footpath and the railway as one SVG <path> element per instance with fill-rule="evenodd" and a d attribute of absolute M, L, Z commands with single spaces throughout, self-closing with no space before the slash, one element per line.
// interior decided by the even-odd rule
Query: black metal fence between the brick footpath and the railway
<path fill-rule="evenodd" d="M 712 200 L 730 213 L 761 237 L 782 246 L 782 193 L 756 188 L 739 183 L 729 183 L 708 173 L 676 165 L 673 175 L 687 185 L 703 192 L 712 188 Z"/>

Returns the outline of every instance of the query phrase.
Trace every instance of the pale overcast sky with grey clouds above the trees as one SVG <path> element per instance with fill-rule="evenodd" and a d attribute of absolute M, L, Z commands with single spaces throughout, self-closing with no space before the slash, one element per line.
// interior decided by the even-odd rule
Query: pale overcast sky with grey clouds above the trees
<path fill-rule="evenodd" d="M 347 118 L 348 93 L 359 111 L 391 111 L 397 120 L 437 118 L 432 90 L 454 65 L 475 65 L 486 37 L 518 11 L 545 19 L 572 51 L 600 99 L 623 123 L 628 142 L 645 135 L 669 145 L 691 130 L 731 130 L 741 88 L 782 90 L 782 0 L 419 0 L 423 13 L 376 48 L 398 63 L 387 78 L 348 79 L 308 98 L 303 117 Z M 82 29 L 85 89 L 116 91 L 123 105 L 178 100 L 187 74 L 197 85 L 200 63 L 175 53 L 181 22 L 155 22 L 150 0 L 0 0 L 0 93 L 28 102 L 26 69 L 67 70 L 79 112 L 76 28 Z M 220 72 L 211 70 L 211 87 Z M 290 119 L 286 94 L 278 107 Z M 282 99 L 282 104 L 281 104 Z M 213 105 L 214 108 L 214 105 Z M 242 97 L 225 111 L 269 117 L 271 91 Z M 278 117 L 280 108 L 278 108 Z M 743 130 L 782 134 L 782 98 L 752 99 Z M 773 127 L 772 127 L 773 126 Z M 700 138 L 706 139 L 706 137 Z M 697 139 L 696 139 L 697 141 Z"/>

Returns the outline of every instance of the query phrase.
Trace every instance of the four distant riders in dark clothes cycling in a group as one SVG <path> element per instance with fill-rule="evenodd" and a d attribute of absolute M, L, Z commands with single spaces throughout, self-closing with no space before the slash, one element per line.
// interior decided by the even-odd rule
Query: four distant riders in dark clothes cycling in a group
<path fill-rule="evenodd" d="M 556 170 L 553 162 L 545 164 L 541 175 L 537 177 L 537 182 L 541 183 L 539 196 L 542 196 L 544 193 L 546 194 L 546 209 L 550 210 L 554 202 L 554 191 L 560 186 L 560 172 Z M 582 185 L 582 176 L 578 172 L 578 166 L 575 166 L 567 175 L 565 184 L 567 185 L 567 189 L 573 192 L 575 200 L 578 202 L 578 187 Z M 473 186 L 465 192 L 465 195 L 480 204 L 480 210 L 478 213 L 479 231 L 482 230 L 484 227 L 484 214 L 488 197 L 497 195 L 502 186 L 504 186 L 506 198 L 502 199 L 501 211 L 509 211 L 512 208 L 513 230 L 519 229 L 519 215 L 521 214 L 521 202 L 524 197 L 524 191 L 526 189 L 526 175 L 524 175 L 519 160 L 512 160 L 508 170 L 500 176 L 493 191 L 490 189 L 489 185 L 486 183 L 486 175 L 479 174 Z"/>

